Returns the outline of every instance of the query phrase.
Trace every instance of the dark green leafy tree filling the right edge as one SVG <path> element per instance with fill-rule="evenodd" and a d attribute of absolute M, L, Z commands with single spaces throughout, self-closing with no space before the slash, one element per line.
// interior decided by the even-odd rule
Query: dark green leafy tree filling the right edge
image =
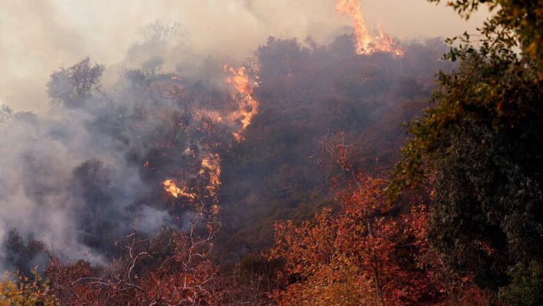
<path fill-rule="evenodd" d="M 439 2 L 439 0 L 430 0 Z M 494 15 L 448 40 L 457 71 L 439 74 L 433 106 L 411 138 L 387 191 L 433 183 L 430 241 L 458 273 L 482 287 L 543 254 L 543 6 L 541 1 L 450 1 L 463 17 L 487 3 Z M 520 52 L 519 52 L 520 51 Z M 517 291 L 518 292 L 518 291 Z"/>

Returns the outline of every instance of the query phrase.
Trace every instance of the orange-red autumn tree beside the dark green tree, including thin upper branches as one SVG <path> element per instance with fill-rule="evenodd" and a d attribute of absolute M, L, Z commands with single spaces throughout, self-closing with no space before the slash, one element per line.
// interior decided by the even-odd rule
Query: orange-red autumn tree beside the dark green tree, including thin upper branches
<path fill-rule="evenodd" d="M 353 167 L 348 145 L 327 143 L 324 152 L 347 174 L 338 184 L 341 208 L 324 209 L 299 226 L 276 224 L 270 256 L 285 263 L 279 273 L 285 290 L 274 295 L 279 304 L 404 305 L 442 296 L 448 288 L 426 243 L 422 198 L 394 216 L 381 192 L 386 180 Z"/>

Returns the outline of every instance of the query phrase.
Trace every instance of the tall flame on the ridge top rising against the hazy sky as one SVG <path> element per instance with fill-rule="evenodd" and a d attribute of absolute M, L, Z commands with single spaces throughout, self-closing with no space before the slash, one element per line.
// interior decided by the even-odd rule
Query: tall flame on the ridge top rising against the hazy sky
<path fill-rule="evenodd" d="M 388 52 L 394 56 L 403 56 L 404 50 L 389 35 L 383 32 L 379 24 L 379 36 L 370 35 L 365 25 L 359 0 L 338 0 L 336 11 L 347 14 L 354 22 L 357 54 L 372 54 L 377 51 Z"/>

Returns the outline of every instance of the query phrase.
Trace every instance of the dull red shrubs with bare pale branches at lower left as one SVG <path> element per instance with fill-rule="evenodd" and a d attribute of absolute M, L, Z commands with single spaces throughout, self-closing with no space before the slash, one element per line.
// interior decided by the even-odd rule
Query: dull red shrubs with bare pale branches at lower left
<path fill-rule="evenodd" d="M 53 260 L 46 274 L 62 305 L 218 305 L 209 240 L 179 233 L 167 241 L 134 238 L 111 266 Z"/>

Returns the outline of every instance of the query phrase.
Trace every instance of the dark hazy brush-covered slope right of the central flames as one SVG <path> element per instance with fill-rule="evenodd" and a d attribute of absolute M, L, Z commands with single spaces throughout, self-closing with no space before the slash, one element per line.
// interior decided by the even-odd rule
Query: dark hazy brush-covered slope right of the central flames
<path fill-rule="evenodd" d="M 330 45 L 269 38 L 255 51 L 260 113 L 223 154 L 223 258 L 258 255 L 272 245 L 276 220 L 300 223 L 334 205 L 323 138 L 341 132 L 356 166 L 388 175 L 407 136 L 402 124 L 430 106 L 436 72 L 453 69 L 439 61 L 439 38 L 403 42 L 402 58 L 361 56 L 353 43 L 349 35 Z"/>

